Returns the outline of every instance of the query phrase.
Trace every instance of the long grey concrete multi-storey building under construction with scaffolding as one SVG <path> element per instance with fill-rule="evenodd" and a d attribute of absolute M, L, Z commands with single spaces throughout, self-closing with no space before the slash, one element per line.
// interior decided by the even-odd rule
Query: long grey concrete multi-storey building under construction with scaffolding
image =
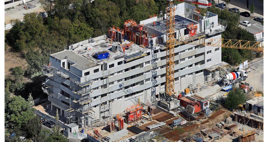
<path fill-rule="evenodd" d="M 201 16 L 187 3 L 174 8 L 174 38 L 195 41 L 175 44 L 174 91 L 179 92 L 190 84 L 204 84 L 206 68 L 222 63 L 221 43 L 217 47 L 202 43 L 220 41 L 227 23 L 211 12 Z M 110 27 L 107 35 L 51 53 L 49 65 L 43 66 L 48 78 L 42 89 L 51 102 L 47 108 L 58 109 L 68 124 L 90 129 L 109 124 L 131 105 L 161 99 L 166 84 L 166 23 L 163 13 L 140 22 L 129 19 L 122 29 Z M 139 114 L 131 114 L 142 108 L 127 111 L 127 117 L 139 119 Z"/>

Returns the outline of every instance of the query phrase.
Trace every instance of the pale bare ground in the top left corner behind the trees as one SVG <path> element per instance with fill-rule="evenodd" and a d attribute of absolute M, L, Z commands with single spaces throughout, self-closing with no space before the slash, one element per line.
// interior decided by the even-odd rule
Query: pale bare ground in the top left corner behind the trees
<path fill-rule="evenodd" d="M 9 24 L 10 23 L 10 20 L 12 19 L 19 19 L 19 20 L 22 20 L 23 19 L 23 16 L 26 14 L 26 13 L 31 13 L 31 12 L 36 12 L 36 13 L 39 13 L 39 12 L 43 12 L 44 10 L 41 8 L 41 4 L 39 3 L 38 0 L 34 0 L 34 1 L 30 1 L 29 4 L 33 4 L 35 5 L 36 7 L 34 7 L 33 9 L 24 9 L 24 5 L 18 5 L 18 6 L 15 6 L 13 8 L 10 8 L 10 9 L 7 9 L 5 10 L 5 23 L 6 24 Z"/>

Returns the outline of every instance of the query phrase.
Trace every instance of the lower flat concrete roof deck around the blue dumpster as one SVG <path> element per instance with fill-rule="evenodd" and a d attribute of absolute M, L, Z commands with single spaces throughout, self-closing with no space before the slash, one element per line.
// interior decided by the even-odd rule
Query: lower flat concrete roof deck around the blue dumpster
<path fill-rule="evenodd" d="M 130 42 L 127 40 L 122 42 L 122 44 L 125 44 L 125 43 L 130 43 Z M 122 53 L 120 51 L 112 52 L 111 47 L 113 44 L 115 43 L 107 43 L 104 39 L 101 39 L 93 43 L 86 43 L 86 44 L 78 45 L 76 47 L 73 47 L 73 49 L 70 49 L 70 50 L 64 50 L 58 53 L 51 54 L 51 56 L 60 60 L 64 59 L 67 56 L 68 60 L 76 63 L 76 64 L 73 64 L 72 66 L 80 70 L 85 70 L 85 69 L 98 65 L 98 63 L 102 61 L 109 61 L 109 60 L 114 60 L 114 59 L 123 58 L 123 57 L 130 58 L 132 55 L 140 54 L 140 53 L 143 53 L 144 50 L 147 50 L 147 48 L 143 48 L 137 44 L 133 44 L 129 49 L 125 50 L 125 53 Z M 106 52 L 106 53 L 109 53 L 110 56 L 108 59 L 100 60 L 95 56 L 95 53 L 97 52 Z"/>

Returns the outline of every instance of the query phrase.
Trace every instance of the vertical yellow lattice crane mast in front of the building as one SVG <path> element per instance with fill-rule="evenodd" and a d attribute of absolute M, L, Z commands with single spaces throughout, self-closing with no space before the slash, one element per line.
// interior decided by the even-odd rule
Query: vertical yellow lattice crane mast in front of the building
<path fill-rule="evenodd" d="M 173 0 L 167 1 L 166 11 L 166 101 L 168 102 L 170 108 L 170 101 L 174 99 L 175 7 L 173 5 Z"/>

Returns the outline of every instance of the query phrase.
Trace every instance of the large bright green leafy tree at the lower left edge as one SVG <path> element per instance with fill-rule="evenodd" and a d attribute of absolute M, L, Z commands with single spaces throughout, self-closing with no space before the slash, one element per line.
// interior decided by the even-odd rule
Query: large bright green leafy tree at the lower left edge
<path fill-rule="evenodd" d="M 5 107 L 5 125 L 8 128 L 18 127 L 20 129 L 35 116 L 33 111 L 34 108 L 25 99 L 21 96 L 13 96 L 7 101 Z"/>

